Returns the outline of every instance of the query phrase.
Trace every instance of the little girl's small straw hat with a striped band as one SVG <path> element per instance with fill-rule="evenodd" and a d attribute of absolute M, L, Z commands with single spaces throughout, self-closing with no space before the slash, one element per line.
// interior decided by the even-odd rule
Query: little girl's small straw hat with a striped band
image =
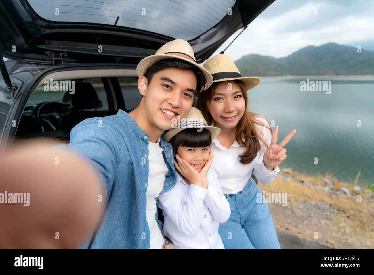
<path fill-rule="evenodd" d="M 190 128 L 208 129 L 211 133 L 212 140 L 215 139 L 221 132 L 220 128 L 218 127 L 208 126 L 208 123 L 206 123 L 206 120 L 204 119 L 200 110 L 195 107 L 192 107 L 191 111 L 187 114 L 187 117 L 182 118 L 181 121 L 178 122 L 178 125 L 174 126 L 173 129 L 169 130 L 169 132 L 167 132 L 163 136 L 163 140 L 169 142 L 169 140 L 171 140 L 173 136 L 177 135 L 184 129 Z"/>

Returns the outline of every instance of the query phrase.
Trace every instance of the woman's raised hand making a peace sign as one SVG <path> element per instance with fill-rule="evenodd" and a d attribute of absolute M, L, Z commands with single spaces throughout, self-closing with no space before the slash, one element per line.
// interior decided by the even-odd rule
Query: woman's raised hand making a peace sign
<path fill-rule="evenodd" d="M 273 170 L 275 166 L 280 164 L 283 160 L 286 159 L 286 149 L 283 148 L 289 142 L 291 137 L 296 133 L 296 130 L 292 130 L 289 134 L 281 141 L 281 143 L 277 144 L 278 139 L 278 125 L 275 126 L 272 142 L 270 143 L 269 148 L 265 151 L 264 154 L 264 164 L 268 170 Z M 270 169 L 269 169 L 270 168 Z"/>

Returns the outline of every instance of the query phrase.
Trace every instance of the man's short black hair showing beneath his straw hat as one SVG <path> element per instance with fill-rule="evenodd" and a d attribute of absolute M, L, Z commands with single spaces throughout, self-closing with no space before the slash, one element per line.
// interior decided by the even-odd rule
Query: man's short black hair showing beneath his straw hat
<path fill-rule="evenodd" d="M 197 68 L 195 65 L 187 61 L 177 59 L 177 58 L 162 59 L 160 61 L 157 61 L 153 65 L 149 66 L 147 68 L 147 71 L 145 71 L 144 73 L 144 76 L 147 78 L 148 85 L 151 83 L 152 77 L 154 74 L 156 74 L 156 72 L 161 71 L 166 68 L 172 68 L 172 67 L 176 67 L 180 69 L 190 69 L 191 71 L 193 71 L 197 79 L 196 91 L 200 92 L 202 88 L 203 90 L 205 90 L 206 79 L 205 79 L 203 72 L 199 68 Z"/>

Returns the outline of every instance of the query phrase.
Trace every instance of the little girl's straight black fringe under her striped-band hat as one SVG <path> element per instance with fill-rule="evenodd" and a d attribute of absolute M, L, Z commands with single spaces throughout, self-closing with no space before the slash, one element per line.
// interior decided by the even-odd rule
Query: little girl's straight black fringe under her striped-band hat
<path fill-rule="evenodd" d="M 169 143 L 173 147 L 174 154 L 177 153 L 179 146 L 201 148 L 210 146 L 212 143 L 211 133 L 208 129 L 189 128 L 184 129 L 173 136 Z"/>

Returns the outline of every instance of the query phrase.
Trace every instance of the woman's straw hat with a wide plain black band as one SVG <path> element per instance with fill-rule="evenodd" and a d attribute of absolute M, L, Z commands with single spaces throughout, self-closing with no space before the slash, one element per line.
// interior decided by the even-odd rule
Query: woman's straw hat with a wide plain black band
<path fill-rule="evenodd" d="M 260 83 L 258 77 L 242 77 L 234 60 L 228 55 L 213 56 L 204 63 L 203 67 L 212 74 L 213 82 L 238 79 L 243 81 L 247 91 Z"/>

